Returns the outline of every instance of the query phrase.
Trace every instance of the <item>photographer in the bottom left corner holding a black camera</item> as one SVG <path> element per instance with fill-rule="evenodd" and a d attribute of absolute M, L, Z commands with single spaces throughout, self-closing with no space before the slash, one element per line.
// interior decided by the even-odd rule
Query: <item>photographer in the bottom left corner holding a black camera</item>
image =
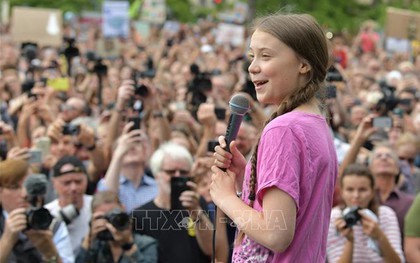
<path fill-rule="evenodd" d="M 50 224 L 45 185 L 28 169 L 26 161 L 0 162 L 0 262 L 74 262 L 67 228 Z"/>

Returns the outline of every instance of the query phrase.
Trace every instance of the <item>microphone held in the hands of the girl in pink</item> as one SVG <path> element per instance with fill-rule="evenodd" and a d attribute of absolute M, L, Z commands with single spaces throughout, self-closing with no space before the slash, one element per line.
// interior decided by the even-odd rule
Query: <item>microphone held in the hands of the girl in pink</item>
<path fill-rule="evenodd" d="M 230 143 L 234 141 L 238 135 L 239 127 L 241 127 L 244 115 L 249 111 L 249 101 L 245 96 L 237 94 L 230 99 L 229 108 L 231 114 L 225 135 L 226 150 L 228 152 L 230 152 Z"/>

